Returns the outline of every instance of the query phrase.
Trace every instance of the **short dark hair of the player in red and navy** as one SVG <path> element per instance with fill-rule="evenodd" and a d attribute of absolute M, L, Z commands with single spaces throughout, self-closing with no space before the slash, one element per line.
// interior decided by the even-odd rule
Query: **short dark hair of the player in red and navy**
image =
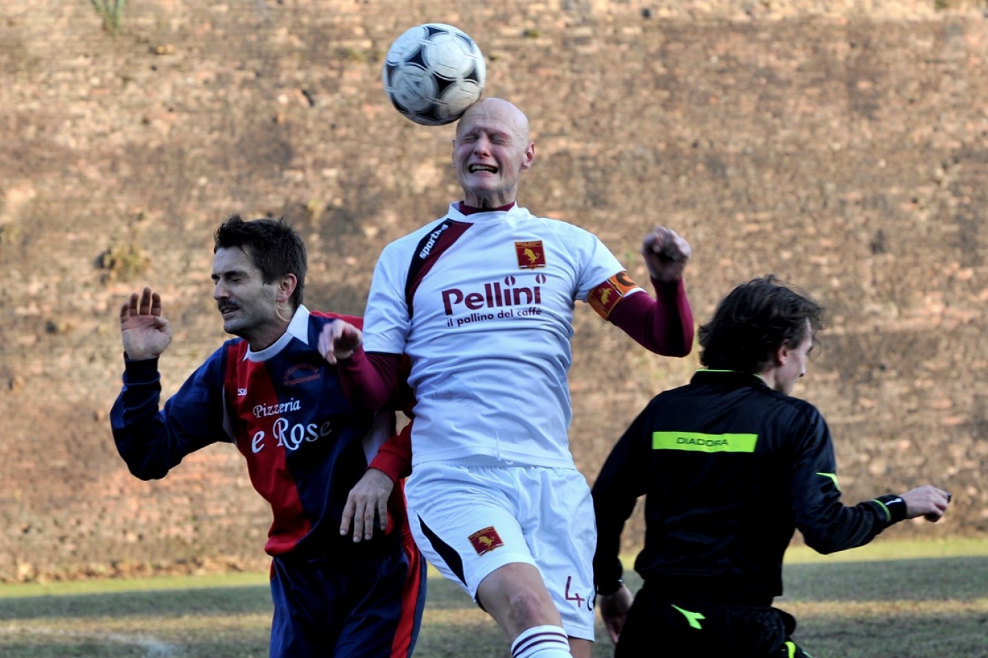
<path fill-rule="evenodd" d="M 302 303 L 308 266 L 305 243 L 284 218 L 246 222 L 240 215 L 230 215 L 216 229 L 212 253 L 233 247 L 246 254 L 261 270 L 261 280 L 266 284 L 274 283 L 286 274 L 294 274 L 298 282 L 291 294 L 291 308 L 298 308 Z"/>

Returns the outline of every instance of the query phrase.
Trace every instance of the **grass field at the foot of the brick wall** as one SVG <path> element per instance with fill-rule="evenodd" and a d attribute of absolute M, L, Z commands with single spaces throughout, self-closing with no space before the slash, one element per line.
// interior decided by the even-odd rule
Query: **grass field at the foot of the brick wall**
<path fill-rule="evenodd" d="M 816 658 L 988 658 L 988 541 L 789 552 L 777 605 Z M 260 658 L 270 620 L 264 574 L 2 585 L 0 656 Z M 600 632 L 595 658 L 612 653 Z M 431 577 L 416 658 L 507 655 L 494 622 Z"/>

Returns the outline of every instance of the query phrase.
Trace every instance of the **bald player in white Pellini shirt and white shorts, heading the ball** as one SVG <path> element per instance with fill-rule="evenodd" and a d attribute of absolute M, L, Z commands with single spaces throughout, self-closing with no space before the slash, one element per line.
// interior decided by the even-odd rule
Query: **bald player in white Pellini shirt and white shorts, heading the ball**
<path fill-rule="evenodd" d="M 408 355 L 416 543 L 498 622 L 514 658 L 589 658 L 596 528 L 567 438 L 574 305 L 684 356 L 692 252 L 664 227 L 644 239 L 653 299 L 594 234 L 518 204 L 534 164 L 521 110 L 501 99 L 466 110 L 453 139 L 462 199 L 381 253 L 366 333 L 334 323 L 319 347 L 381 403 Z"/>

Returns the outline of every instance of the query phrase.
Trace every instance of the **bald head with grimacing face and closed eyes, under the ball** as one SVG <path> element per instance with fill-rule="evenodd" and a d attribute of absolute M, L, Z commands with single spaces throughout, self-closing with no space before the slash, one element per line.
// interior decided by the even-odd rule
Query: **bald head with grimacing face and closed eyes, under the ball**
<path fill-rule="evenodd" d="M 507 101 L 479 101 L 459 119 L 453 139 L 453 167 L 467 205 L 508 205 L 518 195 L 519 177 L 534 161 L 529 121 Z"/>

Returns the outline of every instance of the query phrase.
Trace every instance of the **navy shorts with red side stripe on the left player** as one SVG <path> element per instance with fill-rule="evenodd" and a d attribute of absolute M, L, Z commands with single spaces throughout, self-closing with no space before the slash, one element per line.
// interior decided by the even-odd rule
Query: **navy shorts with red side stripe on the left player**
<path fill-rule="evenodd" d="M 361 548 L 366 548 L 362 550 Z M 408 658 L 426 597 L 426 561 L 410 537 L 386 549 L 273 558 L 271 658 Z"/>

